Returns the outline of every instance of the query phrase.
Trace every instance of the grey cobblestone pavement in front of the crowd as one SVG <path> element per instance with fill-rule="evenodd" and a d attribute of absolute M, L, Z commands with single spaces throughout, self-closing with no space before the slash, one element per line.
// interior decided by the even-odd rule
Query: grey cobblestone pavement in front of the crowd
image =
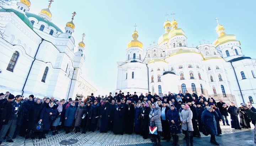
<path fill-rule="evenodd" d="M 231 126 L 221 126 L 221 128 L 222 128 L 222 136 L 224 136 L 225 134 L 231 134 L 231 133 L 234 134 L 234 133 L 239 133 L 244 131 L 252 131 L 252 132 L 254 131 L 250 129 L 235 130 L 235 129 L 231 129 Z M 254 126 L 252 126 L 252 128 L 254 128 Z M 72 146 L 91 146 L 91 145 L 121 146 L 121 145 L 143 145 L 143 144 L 145 144 L 145 146 L 151 145 L 150 139 L 144 140 L 140 135 L 136 135 L 136 134 L 114 135 L 111 131 L 109 131 L 108 133 L 100 133 L 100 131 L 97 130 L 95 132 L 86 132 L 86 134 L 81 134 L 81 133 L 75 134 L 74 131 L 72 131 L 69 134 L 65 134 L 64 131 L 59 131 L 59 134 L 57 135 L 52 136 L 51 134 L 52 133 L 49 132 L 49 134 L 46 135 L 46 139 L 41 139 L 41 140 L 39 139 L 25 140 L 24 137 L 17 137 L 16 139 L 13 139 L 14 140 L 13 143 L 8 143 L 3 141 L 2 145 L 4 146 L 61 146 L 59 142 L 66 139 L 78 140 L 78 142 L 75 144 L 72 144 Z M 204 137 L 206 137 L 203 134 L 201 135 L 202 135 L 202 138 L 201 139 L 194 138 L 195 141 L 196 139 L 202 140 Z M 184 135 L 180 134 L 180 142 L 182 142 L 183 138 L 184 138 Z M 251 138 L 251 140 L 253 140 L 253 137 Z M 230 141 L 233 141 L 233 139 L 230 139 Z"/>

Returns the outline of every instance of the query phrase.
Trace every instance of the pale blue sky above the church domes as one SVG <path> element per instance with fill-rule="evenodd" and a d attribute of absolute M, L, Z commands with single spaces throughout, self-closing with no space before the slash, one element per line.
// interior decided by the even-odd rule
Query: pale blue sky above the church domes
<path fill-rule="evenodd" d="M 30 0 L 32 13 L 47 8 L 48 0 Z M 85 33 L 85 79 L 105 95 L 116 89 L 117 61 L 124 61 L 127 43 L 132 40 L 136 23 L 138 40 L 146 49 L 164 33 L 163 24 L 172 20 L 174 12 L 178 27 L 185 31 L 188 47 L 213 43 L 218 17 L 226 34 L 235 34 L 245 56 L 256 58 L 256 20 L 254 0 L 54 0 L 50 7 L 52 22 L 63 31 L 66 22 L 74 17 L 72 36 L 75 45 Z"/>

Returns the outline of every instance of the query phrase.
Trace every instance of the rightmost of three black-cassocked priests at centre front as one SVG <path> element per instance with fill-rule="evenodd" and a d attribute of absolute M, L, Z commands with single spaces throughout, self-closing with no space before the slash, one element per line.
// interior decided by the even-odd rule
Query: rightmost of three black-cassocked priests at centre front
<path fill-rule="evenodd" d="M 126 110 L 126 133 L 127 134 L 132 134 L 133 133 L 133 123 L 134 123 L 134 104 L 132 103 L 132 98 L 128 98 L 128 108 L 124 108 Z"/>

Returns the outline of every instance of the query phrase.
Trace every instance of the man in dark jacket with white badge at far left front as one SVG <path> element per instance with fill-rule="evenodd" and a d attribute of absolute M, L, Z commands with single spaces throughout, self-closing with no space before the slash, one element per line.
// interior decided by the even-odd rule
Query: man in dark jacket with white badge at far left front
<path fill-rule="evenodd" d="M 5 112 L 2 113 L 2 122 L 4 122 L 4 125 L 0 132 L 0 144 L 2 143 L 2 140 L 4 140 L 8 130 L 9 134 L 6 137 L 6 142 L 14 142 L 11 138 L 14 135 L 17 124 L 21 122 L 23 117 L 21 99 L 22 96 L 17 95 L 14 101 L 7 103 Z"/>

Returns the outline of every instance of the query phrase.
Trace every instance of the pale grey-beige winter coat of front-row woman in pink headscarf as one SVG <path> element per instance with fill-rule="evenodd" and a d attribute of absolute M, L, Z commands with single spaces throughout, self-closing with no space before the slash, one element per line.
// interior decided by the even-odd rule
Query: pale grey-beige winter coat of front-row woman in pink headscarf
<path fill-rule="evenodd" d="M 181 120 L 181 129 L 187 130 L 187 124 L 188 124 L 188 131 L 194 131 L 193 125 L 192 125 L 192 117 L 193 113 L 190 110 L 190 108 L 183 109 L 180 114 L 180 120 Z M 185 121 L 185 124 L 182 123 L 182 121 Z"/>

